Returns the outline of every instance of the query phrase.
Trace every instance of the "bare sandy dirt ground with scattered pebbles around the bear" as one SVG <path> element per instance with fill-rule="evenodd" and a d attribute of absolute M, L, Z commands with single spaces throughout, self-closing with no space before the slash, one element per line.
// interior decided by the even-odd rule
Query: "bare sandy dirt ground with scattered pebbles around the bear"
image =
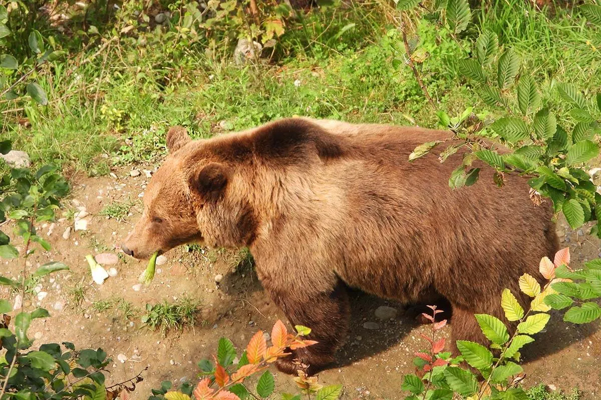
<path fill-rule="evenodd" d="M 143 171 L 154 166 L 137 166 Z M 102 347 L 114 360 L 107 386 L 133 377 L 146 366 L 144 381 L 132 393 L 133 399 L 147 399 L 150 389 L 159 387 L 163 380 L 175 383 L 194 380 L 197 362 L 216 353 L 219 338 L 226 336 L 240 350 L 257 330 L 270 331 L 281 318 L 287 321 L 261 289 L 252 270 L 238 268 L 236 254 L 229 252 L 188 251 L 177 248 L 166 254 L 165 264 L 157 266 L 157 275 L 149 287 L 134 290 L 137 278 L 145 263 L 130 257 L 121 257 L 114 267 L 116 276 L 109 277 L 103 285 L 95 284 L 90 276 L 87 254 L 118 254 L 118 243 L 124 239 L 132 223 L 141 212 L 139 195 L 148 181 L 141 172 L 132 177 L 131 169 L 114 170 L 111 176 L 100 178 L 75 177 L 73 193 L 66 202 L 71 209 L 85 207 L 88 230 L 72 231 L 69 239 L 63 238 L 67 227 L 73 227 L 72 218 L 64 218 L 42 230 L 42 236 L 52 243 L 52 250 L 37 251 L 31 258 L 31 269 L 49 260 L 63 261 L 70 271 L 47 276 L 38 283 L 37 291 L 47 293 L 34 303 L 50 311 L 52 317 L 35 320 L 30 336 L 38 344 L 44 342 L 72 341 L 78 348 Z M 103 207 L 114 201 L 135 201 L 125 221 L 108 219 L 99 215 Z M 2 226 L 10 233 L 10 225 Z M 576 264 L 596 258 L 601 251 L 599 240 L 571 231 L 564 222 L 558 224 L 561 240 L 572 251 Z M 584 229 L 584 232 L 588 232 Z M 19 274 L 21 265 L 3 262 L 2 275 Z M 224 276 L 219 284 L 215 276 Z M 73 288 L 81 284 L 85 299 L 78 306 Z M 0 289 L 1 297 L 14 295 Z M 142 326 L 140 315 L 147 303 L 162 299 L 173 301 L 185 296 L 201 302 L 194 327 L 182 332 L 171 332 L 163 337 Z M 43 297 L 38 294 L 38 298 Z M 97 312 L 93 303 L 99 300 L 130 302 L 134 316 L 126 318 L 117 307 Z M 98 303 L 96 303 L 98 304 Z M 347 344 L 338 353 L 338 364 L 319 375 L 322 384 L 342 384 L 344 399 L 400 399 L 403 375 L 412 372 L 413 352 L 423 349 L 424 341 L 418 333 L 427 328 L 419 326 L 407 316 L 405 308 L 393 302 L 376 299 L 362 293 L 353 293 L 353 322 Z M 394 320 L 380 321 L 374 310 L 380 305 L 398 309 Z M 364 323 L 379 324 L 378 329 L 365 329 Z M 443 330 L 448 335 L 448 327 Z M 241 351 L 240 351 L 241 352 Z M 121 354 L 121 360 L 118 356 Z M 572 387 L 584 390 L 585 399 L 601 398 L 601 329 L 599 324 L 576 326 L 561 321 L 554 315 L 547 332 L 539 336 L 534 345 L 523 354 L 526 386 L 538 383 L 554 385 L 558 390 Z M 276 393 L 296 392 L 287 375 L 272 367 L 276 377 Z"/>

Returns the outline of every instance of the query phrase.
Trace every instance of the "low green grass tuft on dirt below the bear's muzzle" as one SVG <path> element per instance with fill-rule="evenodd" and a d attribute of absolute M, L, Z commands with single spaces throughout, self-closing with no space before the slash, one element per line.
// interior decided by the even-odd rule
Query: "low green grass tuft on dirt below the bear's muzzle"
<path fill-rule="evenodd" d="M 194 317 L 198 311 L 198 300 L 184 297 L 174 303 L 163 301 L 156 305 L 146 305 L 142 315 L 142 323 L 152 330 L 159 330 L 165 336 L 171 330 L 181 331 L 184 326 L 193 326 Z"/>

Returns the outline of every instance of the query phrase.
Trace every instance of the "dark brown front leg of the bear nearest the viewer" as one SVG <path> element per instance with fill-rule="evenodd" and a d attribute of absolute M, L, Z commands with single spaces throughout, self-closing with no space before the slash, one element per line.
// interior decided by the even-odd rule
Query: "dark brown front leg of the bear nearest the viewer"
<path fill-rule="evenodd" d="M 343 344 L 349 325 L 349 297 L 346 285 L 338 280 L 331 291 L 318 294 L 290 293 L 266 285 L 273 301 L 284 311 L 293 326 L 311 328 L 307 339 L 317 344 L 296 350 L 287 350 L 290 356 L 276 361 L 279 371 L 296 375 L 301 362 L 308 365 L 307 374 L 313 375 L 334 361 L 335 351 Z"/>

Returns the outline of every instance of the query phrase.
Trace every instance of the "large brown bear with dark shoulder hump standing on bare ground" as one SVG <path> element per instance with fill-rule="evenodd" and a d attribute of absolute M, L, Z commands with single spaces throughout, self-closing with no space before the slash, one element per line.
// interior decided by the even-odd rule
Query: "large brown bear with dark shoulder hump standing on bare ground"
<path fill-rule="evenodd" d="M 347 287 L 404 303 L 444 296 L 453 343 L 486 344 L 474 314 L 504 318 L 502 290 L 519 296 L 520 275 L 540 275 L 540 259 L 558 249 L 552 209 L 535 206 L 519 176 L 496 187 L 486 166 L 477 184 L 451 190 L 461 152 L 442 164 L 438 152 L 407 160 L 433 140 L 453 143 L 445 131 L 307 118 L 208 140 L 171 128 L 123 251 L 248 246 L 264 289 L 319 342 L 279 360 L 287 373 L 294 359 L 310 372 L 334 360 Z"/>

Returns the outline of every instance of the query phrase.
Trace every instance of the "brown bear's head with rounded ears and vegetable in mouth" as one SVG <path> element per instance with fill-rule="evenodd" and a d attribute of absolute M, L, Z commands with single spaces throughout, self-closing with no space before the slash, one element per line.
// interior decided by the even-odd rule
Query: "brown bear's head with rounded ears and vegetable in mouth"
<path fill-rule="evenodd" d="M 148 182 L 142 215 L 121 249 L 146 259 L 185 243 L 248 245 L 256 224 L 236 166 L 213 151 L 212 140 L 193 141 L 183 127 L 172 127 L 166 143 L 169 155 Z"/>

